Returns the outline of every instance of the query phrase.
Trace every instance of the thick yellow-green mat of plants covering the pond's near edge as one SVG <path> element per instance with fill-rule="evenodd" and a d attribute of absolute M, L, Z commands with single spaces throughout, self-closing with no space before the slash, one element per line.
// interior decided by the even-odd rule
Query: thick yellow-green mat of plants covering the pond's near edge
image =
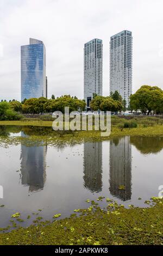
<path fill-rule="evenodd" d="M 92 201 L 70 218 L 0 234 L 1 245 L 162 245 L 163 199 L 148 200 L 149 208 L 135 208 L 109 200 L 106 209 Z M 106 199 L 108 202 L 108 199 Z M 39 222 L 39 224 L 38 224 Z"/>

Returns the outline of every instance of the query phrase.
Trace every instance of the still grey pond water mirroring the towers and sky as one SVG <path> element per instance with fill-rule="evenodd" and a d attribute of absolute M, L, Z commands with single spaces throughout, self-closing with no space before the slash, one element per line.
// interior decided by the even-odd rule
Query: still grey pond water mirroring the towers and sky
<path fill-rule="evenodd" d="M 5 129 L 3 130 L 3 136 Z M 0 133 L 1 134 L 1 133 Z M 23 131 L 5 136 L 23 136 Z M 1 140 L 1 137 L 0 137 Z M 122 137 L 104 142 L 85 142 L 52 147 L 24 144 L 0 147 L 0 227 L 15 212 L 29 225 L 38 212 L 45 220 L 54 214 L 70 216 L 74 209 L 87 208 L 86 199 L 109 197 L 125 205 L 145 206 L 145 200 L 158 196 L 163 185 L 163 138 Z M 126 190 L 120 190 L 119 186 Z M 138 198 L 142 198 L 139 200 Z M 104 200 L 105 201 L 105 200 Z M 106 203 L 101 202 L 104 207 Z M 27 220 L 27 216 L 32 217 Z"/>

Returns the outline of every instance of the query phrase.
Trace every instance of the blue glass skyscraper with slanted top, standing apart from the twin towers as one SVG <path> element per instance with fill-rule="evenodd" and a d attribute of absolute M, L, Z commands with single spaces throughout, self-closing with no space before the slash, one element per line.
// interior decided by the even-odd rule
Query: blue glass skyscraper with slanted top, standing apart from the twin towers
<path fill-rule="evenodd" d="M 46 97 L 46 48 L 42 41 L 29 39 L 21 46 L 21 101 Z"/>

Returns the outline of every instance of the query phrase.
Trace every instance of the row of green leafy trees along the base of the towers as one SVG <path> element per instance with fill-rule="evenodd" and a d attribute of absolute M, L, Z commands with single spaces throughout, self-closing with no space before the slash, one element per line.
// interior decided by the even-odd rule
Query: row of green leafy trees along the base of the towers
<path fill-rule="evenodd" d="M 84 100 L 79 100 L 76 96 L 64 95 L 57 97 L 52 95 L 51 99 L 45 97 L 24 99 L 22 102 L 12 100 L 7 102 L 2 100 L 0 102 L 0 119 L 1 120 L 18 120 L 23 114 L 39 114 L 52 113 L 54 111 L 61 111 L 64 113 L 65 107 L 72 111 L 85 111 L 86 103 Z M 112 111 L 121 112 L 126 111 L 126 100 L 116 91 L 110 96 L 98 96 L 93 94 L 93 99 L 90 103 L 93 111 Z M 130 111 L 140 110 L 143 114 L 149 115 L 163 113 L 163 91 L 156 86 L 142 86 L 137 92 L 130 96 L 130 104 L 128 106 Z"/>

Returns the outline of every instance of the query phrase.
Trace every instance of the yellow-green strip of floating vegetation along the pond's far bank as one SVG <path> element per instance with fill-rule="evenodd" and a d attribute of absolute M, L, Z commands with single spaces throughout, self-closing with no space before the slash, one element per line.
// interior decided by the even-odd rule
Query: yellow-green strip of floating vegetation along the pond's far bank
<path fill-rule="evenodd" d="M 160 119 L 161 120 L 161 119 Z M 109 139 L 115 138 L 115 137 L 122 137 L 122 136 L 142 136 L 142 137 L 162 137 L 163 136 L 163 129 L 162 129 L 162 123 L 156 123 L 155 126 L 149 126 L 147 128 L 139 126 L 139 129 L 133 128 L 133 129 L 123 129 L 123 131 L 120 131 L 118 129 L 117 124 L 114 125 L 114 119 L 112 119 L 112 128 L 111 128 L 111 135 L 110 136 L 101 136 L 101 131 L 76 131 L 72 135 L 71 132 L 64 133 L 61 137 L 60 134 L 56 131 L 52 130 L 52 123 L 51 122 L 43 122 L 43 125 L 40 125 L 40 123 L 33 123 L 34 126 L 29 126 L 30 122 L 24 123 L 17 123 L 15 121 L 1 121 L 0 126 L 4 127 L 8 130 L 7 134 L 12 132 L 14 127 L 18 127 L 19 131 L 23 131 L 27 136 L 16 136 L 16 137 L 9 137 L 6 135 L 0 134 L 1 142 L 0 147 L 9 148 L 11 145 L 18 145 L 23 144 L 26 145 L 26 147 L 33 147 L 36 146 L 42 146 L 42 145 L 51 145 L 51 146 L 57 146 L 62 147 L 62 145 L 75 145 L 75 144 L 81 144 L 84 142 L 99 142 L 99 141 L 107 141 Z M 163 121 L 162 121 L 163 122 Z M 4 125 L 5 126 L 4 126 Z M 17 126 L 18 124 L 21 124 L 22 126 Z M 37 126 L 35 126 L 37 125 Z M 49 126 L 49 127 L 46 127 Z M 47 130 L 48 129 L 48 130 Z M 45 131 L 44 131 L 45 130 Z M 43 132 L 44 131 L 44 132 Z"/>

